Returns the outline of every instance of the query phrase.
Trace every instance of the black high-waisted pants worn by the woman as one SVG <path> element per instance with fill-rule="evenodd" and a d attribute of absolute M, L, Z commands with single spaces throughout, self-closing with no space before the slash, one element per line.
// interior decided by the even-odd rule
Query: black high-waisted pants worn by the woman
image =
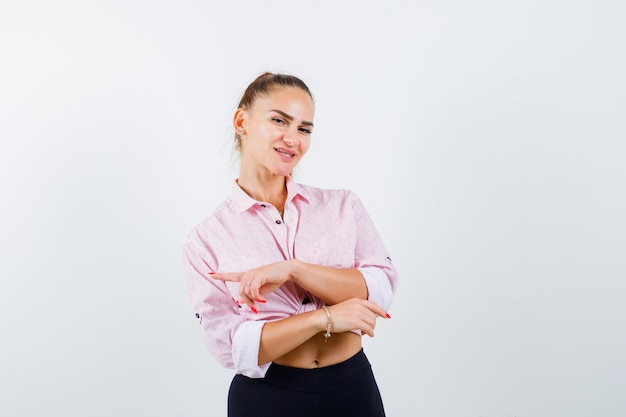
<path fill-rule="evenodd" d="M 235 375 L 228 417 L 384 417 L 372 367 L 361 350 L 336 365 L 270 365 L 265 378 Z"/>

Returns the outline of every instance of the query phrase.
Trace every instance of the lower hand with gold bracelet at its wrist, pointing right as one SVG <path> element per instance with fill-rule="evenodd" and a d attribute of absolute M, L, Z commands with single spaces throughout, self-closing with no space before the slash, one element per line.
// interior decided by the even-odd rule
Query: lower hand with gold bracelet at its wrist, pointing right
<path fill-rule="evenodd" d="M 333 306 L 328 306 L 328 310 L 332 321 L 331 333 L 360 330 L 362 334 L 374 337 L 376 319 L 378 317 L 391 318 L 378 304 L 360 298 L 350 298 Z M 323 309 L 320 312 L 324 317 L 323 329 L 326 330 L 328 316 Z"/>

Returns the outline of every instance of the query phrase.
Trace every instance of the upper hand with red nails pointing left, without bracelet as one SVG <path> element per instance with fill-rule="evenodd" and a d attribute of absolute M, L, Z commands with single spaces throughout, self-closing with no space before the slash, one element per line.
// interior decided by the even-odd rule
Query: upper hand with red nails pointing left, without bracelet
<path fill-rule="evenodd" d="M 222 281 L 239 283 L 239 304 L 247 304 L 256 312 L 255 302 L 264 303 L 263 294 L 275 291 L 291 279 L 292 264 L 290 261 L 275 262 L 260 266 L 246 272 L 215 272 L 212 278 Z"/>

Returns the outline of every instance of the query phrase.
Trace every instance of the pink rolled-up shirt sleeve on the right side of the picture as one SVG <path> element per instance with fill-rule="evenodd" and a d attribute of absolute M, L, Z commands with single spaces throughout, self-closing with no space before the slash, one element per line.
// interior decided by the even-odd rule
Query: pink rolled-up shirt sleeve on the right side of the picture
<path fill-rule="evenodd" d="M 355 265 L 365 279 L 368 299 L 388 310 L 398 287 L 398 272 L 363 203 L 354 194 L 352 197 L 356 232 Z"/>

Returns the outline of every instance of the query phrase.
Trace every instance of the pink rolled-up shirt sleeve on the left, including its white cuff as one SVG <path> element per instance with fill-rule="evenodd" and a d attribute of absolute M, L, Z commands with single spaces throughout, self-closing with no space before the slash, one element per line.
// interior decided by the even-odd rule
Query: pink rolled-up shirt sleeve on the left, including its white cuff
<path fill-rule="evenodd" d="M 192 312 L 204 342 L 224 367 L 262 378 L 269 364 L 258 365 L 264 321 L 247 320 L 226 283 L 209 276 L 215 265 L 207 251 L 190 238 L 183 248 L 183 274 Z"/>

